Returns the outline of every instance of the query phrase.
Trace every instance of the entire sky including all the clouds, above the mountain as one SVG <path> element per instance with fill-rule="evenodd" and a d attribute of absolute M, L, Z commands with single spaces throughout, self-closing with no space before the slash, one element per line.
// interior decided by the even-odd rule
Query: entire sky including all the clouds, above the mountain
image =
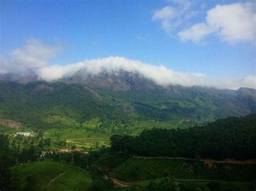
<path fill-rule="evenodd" d="M 163 85 L 256 88 L 255 10 L 254 1 L 229 0 L 2 0 L 0 72 L 32 68 L 56 80 L 136 63 Z"/>

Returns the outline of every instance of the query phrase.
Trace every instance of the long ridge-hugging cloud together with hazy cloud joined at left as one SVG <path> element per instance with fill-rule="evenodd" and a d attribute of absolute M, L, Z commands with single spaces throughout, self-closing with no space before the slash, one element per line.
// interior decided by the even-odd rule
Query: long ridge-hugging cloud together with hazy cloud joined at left
<path fill-rule="evenodd" d="M 228 89 L 256 88 L 255 75 L 233 79 L 213 79 L 197 72 L 176 72 L 163 65 L 155 66 L 118 56 L 85 60 L 69 65 L 49 65 L 48 61 L 61 50 L 62 48 L 57 45 L 46 45 L 35 39 L 28 40 L 24 47 L 11 52 L 11 59 L 0 57 L 0 72 L 26 73 L 32 70 L 40 80 L 55 81 L 72 76 L 77 72 L 82 75 L 98 75 L 102 72 L 119 74 L 119 72 L 125 71 L 144 76 L 161 86 L 181 84 L 182 86 L 207 86 Z"/>

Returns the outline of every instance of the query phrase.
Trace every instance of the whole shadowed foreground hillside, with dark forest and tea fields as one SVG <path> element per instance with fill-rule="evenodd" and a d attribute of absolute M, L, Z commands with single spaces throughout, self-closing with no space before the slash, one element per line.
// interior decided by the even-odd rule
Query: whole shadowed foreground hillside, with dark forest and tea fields
<path fill-rule="evenodd" d="M 0 134 L 0 186 L 11 190 L 165 190 L 162 187 L 166 186 L 255 190 L 255 115 L 187 129 L 153 128 L 139 136 L 114 135 L 110 148 L 90 148 L 88 152 L 68 150 L 69 144 L 56 147 L 51 136 L 41 140 L 17 137 L 14 142 Z M 61 136 L 69 134 L 72 132 L 65 131 Z M 10 147 L 18 139 L 23 139 L 22 146 L 28 144 L 22 152 Z M 80 144 L 88 141 L 66 139 L 72 145 L 78 140 Z M 42 146 L 42 141 L 49 145 Z"/>

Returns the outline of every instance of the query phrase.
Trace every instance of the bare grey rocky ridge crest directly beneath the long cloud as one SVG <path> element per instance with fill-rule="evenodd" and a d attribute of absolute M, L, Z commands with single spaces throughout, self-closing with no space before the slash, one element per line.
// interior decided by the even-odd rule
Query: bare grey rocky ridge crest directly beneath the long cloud
<path fill-rule="evenodd" d="M 44 81 L 40 79 L 40 77 L 34 71 L 28 71 L 26 73 L 4 73 L 0 74 L 0 80 L 3 81 L 11 81 L 21 84 L 27 84 L 35 81 Z M 102 72 L 97 75 L 93 74 L 84 74 L 82 70 L 79 70 L 77 73 L 71 76 L 64 76 L 58 80 L 48 81 L 48 82 L 65 82 L 65 83 L 79 83 L 85 84 L 87 86 L 93 88 L 105 88 L 112 89 L 114 91 L 119 90 L 131 90 L 131 89 L 164 89 L 166 91 L 170 91 L 170 87 L 173 86 L 182 86 L 178 83 L 169 84 L 167 86 L 161 86 L 155 83 L 149 77 L 145 77 L 142 74 L 136 72 L 125 72 L 120 70 L 118 73 L 116 72 Z M 182 86 L 182 87 L 201 87 L 201 88 L 213 88 L 220 90 L 232 90 L 228 88 L 217 88 L 214 86 Z M 254 90 L 253 94 L 256 94 L 256 89 L 240 87 L 239 91 L 243 91 L 245 89 Z"/>

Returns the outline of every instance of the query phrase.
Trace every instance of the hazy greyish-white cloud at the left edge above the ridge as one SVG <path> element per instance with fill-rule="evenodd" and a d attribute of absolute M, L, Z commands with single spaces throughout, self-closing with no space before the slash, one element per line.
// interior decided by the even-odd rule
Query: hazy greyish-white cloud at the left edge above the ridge
<path fill-rule="evenodd" d="M 0 58 L 0 69 L 7 72 L 24 72 L 27 69 L 42 68 L 48 60 L 61 51 L 58 45 L 46 45 L 38 39 L 28 39 L 22 48 L 11 51 L 11 60 Z"/>

